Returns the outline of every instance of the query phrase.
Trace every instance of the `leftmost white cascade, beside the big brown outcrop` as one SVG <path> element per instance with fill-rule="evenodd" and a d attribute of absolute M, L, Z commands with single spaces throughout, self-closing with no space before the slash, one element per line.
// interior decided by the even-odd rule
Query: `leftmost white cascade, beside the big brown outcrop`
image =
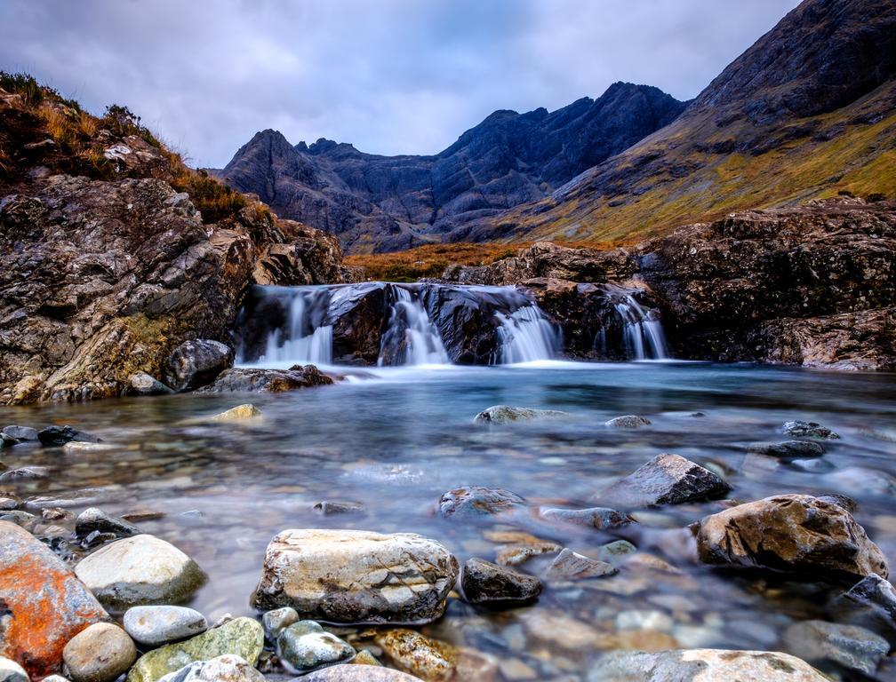
<path fill-rule="evenodd" d="M 261 358 L 263 362 L 332 363 L 332 325 L 315 327 L 310 320 L 316 304 L 321 303 L 320 291 L 297 289 L 289 302 L 286 333 L 274 329 Z"/>

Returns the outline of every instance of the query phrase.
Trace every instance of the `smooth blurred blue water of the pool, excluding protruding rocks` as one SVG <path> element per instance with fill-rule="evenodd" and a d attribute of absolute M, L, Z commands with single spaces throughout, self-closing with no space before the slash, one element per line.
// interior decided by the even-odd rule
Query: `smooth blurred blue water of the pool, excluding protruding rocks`
<path fill-rule="evenodd" d="M 249 614 L 263 552 L 286 528 L 415 532 L 442 541 L 462 562 L 493 559 L 489 531 L 526 530 L 582 554 L 625 538 L 674 570 L 626 565 L 618 575 L 547 585 L 533 606 L 492 612 L 451 601 L 424 628 L 494 657 L 504 678 L 585 678 L 589 661 L 615 648 L 780 649 L 788 623 L 824 618 L 830 587 L 731 575 L 699 566 L 682 529 L 719 502 L 636 512 L 613 533 L 542 525 L 443 520 L 446 490 L 484 485 L 533 504 L 589 507 L 592 496 L 661 452 L 711 466 L 733 499 L 775 493 L 840 492 L 857 499 L 857 519 L 896 560 L 896 377 L 685 362 L 510 367 L 372 369 L 367 378 L 280 395 L 181 395 L 87 405 L 5 408 L 0 421 L 71 423 L 115 446 L 68 452 L 18 446 L 8 467 L 44 465 L 47 480 L 5 488 L 73 511 L 164 512 L 141 528 L 171 541 L 210 575 L 193 606 L 210 620 Z M 197 418 L 252 402 L 263 418 Z M 567 419 L 480 427 L 473 416 L 509 404 L 568 412 Z M 616 415 L 652 422 L 607 429 Z M 702 414 L 696 414 L 702 413 Z M 755 441 L 786 439 L 783 422 L 821 422 L 842 439 L 818 460 L 780 464 L 750 454 Z M 362 503 L 357 516 L 322 516 L 321 500 Z M 39 503 L 40 500 L 38 500 Z M 492 535 L 491 537 L 494 538 Z M 549 558 L 521 569 L 540 573 Z M 527 670 L 529 672 L 527 672 Z M 521 677 L 522 676 L 522 677 Z M 499 677 L 501 678 L 501 677 Z"/>

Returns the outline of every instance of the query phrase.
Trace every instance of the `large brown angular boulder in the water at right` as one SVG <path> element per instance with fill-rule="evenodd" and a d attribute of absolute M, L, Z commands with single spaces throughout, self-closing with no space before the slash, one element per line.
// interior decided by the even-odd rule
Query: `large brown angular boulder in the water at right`
<path fill-rule="evenodd" d="M 837 579 L 889 573 L 883 553 L 849 511 L 809 495 L 779 495 L 707 516 L 697 550 L 717 566 Z"/>

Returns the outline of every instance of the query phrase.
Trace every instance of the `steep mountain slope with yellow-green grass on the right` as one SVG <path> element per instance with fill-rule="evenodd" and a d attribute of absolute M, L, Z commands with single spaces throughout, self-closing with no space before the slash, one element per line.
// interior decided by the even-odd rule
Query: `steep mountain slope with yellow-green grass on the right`
<path fill-rule="evenodd" d="M 632 239 L 838 193 L 896 197 L 896 0 L 806 0 L 659 132 L 454 241 Z"/>

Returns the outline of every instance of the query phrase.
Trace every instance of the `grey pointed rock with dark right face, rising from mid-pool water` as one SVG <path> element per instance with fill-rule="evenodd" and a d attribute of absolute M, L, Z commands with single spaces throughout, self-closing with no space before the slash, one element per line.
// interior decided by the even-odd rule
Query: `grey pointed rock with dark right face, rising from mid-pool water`
<path fill-rule="evenodd" d="M 727 482 L 685 457 L 664 454 L 616 482 L 598 499 L 614 507 L 677 505 L 724 496 Z"/>

